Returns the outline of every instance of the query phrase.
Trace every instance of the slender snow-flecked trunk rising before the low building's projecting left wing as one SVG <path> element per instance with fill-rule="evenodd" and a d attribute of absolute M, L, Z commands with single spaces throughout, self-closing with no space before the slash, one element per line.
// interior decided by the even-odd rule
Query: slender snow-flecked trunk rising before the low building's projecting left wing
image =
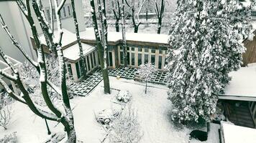
<path fill-rule="evenodd" d="M 79 35 L 79 28 L 78 28 L 78 20 L 76 18 L 76 8 L 75 8 L 75 2 L 74 0 L 71 0 L 71 6 L 72 6 L 72 10 L 73 10 L 73 19 L 74 19 L 74 22 L 75 22 L 75 27 L 76 27 L 76 39 L 78 41 L 78 46 L 79 46 L 79 55 L 80 55 L 80 58 L 81 58 L 81 61 L 82 61 L 82 64 L 81 64 L 81 72 L 82 72 L 82 75 L 83 75 L 83 78 L 86 77 L 86 58 L 83 54 L 83 46 L 81 44 L 81 39 L 80 39 L 80 35 Z"/>

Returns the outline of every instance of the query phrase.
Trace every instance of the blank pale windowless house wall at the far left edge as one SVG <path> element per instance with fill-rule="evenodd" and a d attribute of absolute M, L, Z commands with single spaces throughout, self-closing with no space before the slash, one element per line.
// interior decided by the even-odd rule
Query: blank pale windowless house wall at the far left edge
<path fill-rule="evenodd" d="M 15 39 L 17 39 L 23 49 L 27 51 L 27 54 L 35 57 L 35 54 L 32 54 L 32 45 L 28 39 L 27 30 L 24 27 L 23 19 L 16 2 L 1 1 L 0 14 L 3 16 L 6 25 L 9 27 Z M 24 56 L 22 56 L 18 49 L 12 44 L 12 41 L 9 39 L 9 36 L 6 35 L 4 29 L 0 29 L 0 46 L 5 54 L 21 62 L 25 60 Z"/>

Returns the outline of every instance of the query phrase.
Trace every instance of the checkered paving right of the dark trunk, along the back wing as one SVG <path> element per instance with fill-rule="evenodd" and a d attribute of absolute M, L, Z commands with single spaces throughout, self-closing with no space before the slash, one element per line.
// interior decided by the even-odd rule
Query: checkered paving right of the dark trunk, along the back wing
<path fill-rule="evenodd" d="M 157 71 L 153 74 L 150 81 L 154 84 L 166 84 L 166 71 Z M 125 79 L 137 79 L 137 69 L 133 67 L 119 66 L 116 69 L 109 69 L 110 76 L 120 76 Z"/>

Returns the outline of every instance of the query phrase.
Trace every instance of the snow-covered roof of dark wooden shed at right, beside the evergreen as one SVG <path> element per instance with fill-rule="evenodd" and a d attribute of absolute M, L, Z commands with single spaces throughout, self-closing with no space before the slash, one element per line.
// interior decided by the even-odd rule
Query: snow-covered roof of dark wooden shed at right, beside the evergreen
<path fill-rule="evenodd" d="M 256 101 L 256 65 L 249 64 L 229 74 L 232 80 L 219 99 Z"/>

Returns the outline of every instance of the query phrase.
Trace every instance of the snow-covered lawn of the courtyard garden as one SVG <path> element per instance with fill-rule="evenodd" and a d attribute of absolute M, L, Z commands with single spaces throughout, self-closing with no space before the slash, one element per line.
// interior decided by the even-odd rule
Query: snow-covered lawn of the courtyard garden
<path fill-rule="evenodd" d="M 75 117 L 78 139 L 83 142 L 98 143 L 106 134 L 101 125 L 96 122 L 94 113 L 101 109 L 111 109 L 121 106 L 111 100 L 118 93 L 117 90 L 128 90 L 132 94 L 132 107 L 137 111 L 140 126 L 143 132 L 142 143 L 187 143 L 191 129 L 175 127 L 170 120 L 171 102 L 167 99 L 167 88 L 160 85 L 149 84 L 145 94 L 145 85 L 127 79 L 110 78 L 111 94 L 103 93 L 101 82 L 88 97 L 76 97 L 71 100 Z M 153 87 L 152 87 L 153 86 Z M 14 103 L 14 123 L 4 131 L 0 128 L 0 138 L 4 134 L 17 132 L 19 142 L 37 143 L 47 137 L 45 121 L 32 114 L 24 104 Z M 52 132 L 61 132 L 63 127 L 55 122 L 49 122 Z M 209 135 L 207 143 L 219 143 L 215 135 Z M 216 138 L 216 139 L 215 139 Z M 196 143 L 198 141 L 193 140 Z"/>

